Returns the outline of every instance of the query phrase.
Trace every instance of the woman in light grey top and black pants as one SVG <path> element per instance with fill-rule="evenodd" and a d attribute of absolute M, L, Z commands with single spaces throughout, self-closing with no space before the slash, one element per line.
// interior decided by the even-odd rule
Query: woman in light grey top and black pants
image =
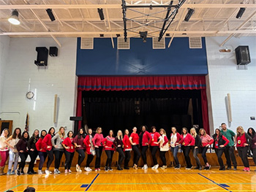
<path fill-rule="evenodd" d="M 64 147 L 61 145 L 61 143 L 65 139 L 65 128 L 60 127 L 58 133 L 56 133 L 51 139 L 51 144 L 53 145 L 53 153 L 55 156 L 54 161 L 54 174 L 60 174 L 59 171 L 59 165 L 61 164 L 61 158 L 64 153 Z"/>

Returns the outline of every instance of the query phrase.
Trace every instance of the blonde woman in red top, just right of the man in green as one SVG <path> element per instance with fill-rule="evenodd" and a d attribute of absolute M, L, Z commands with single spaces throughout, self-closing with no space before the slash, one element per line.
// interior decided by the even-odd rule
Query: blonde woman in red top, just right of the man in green
<path fill-rule="evenodd" d="M 244 131 L 244 128 L 242 126 L 238 126 L 236 128 L 236 148 L 238 150 L 238 155 L 243 161 L 244 164 L 244 172 L 249 172 L 249 161 L 247 158 L 247 146 L 250 145 L 252 142 L 252 138 L 249 137 L 249 134 L 247 134 Z"/>

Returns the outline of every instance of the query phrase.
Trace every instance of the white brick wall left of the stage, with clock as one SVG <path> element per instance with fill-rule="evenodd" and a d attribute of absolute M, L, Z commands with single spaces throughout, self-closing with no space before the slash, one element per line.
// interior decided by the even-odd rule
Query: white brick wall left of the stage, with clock
<path fill-rule="evenodd" d="M 4 92 L 1 101 L 2 119 L 14 120 L 14 127 L 24 128 L 26 113 L 30 115 L 30 134 L 34 128 L 48 130 L 50 126 L 59 129 L 67 126 L 72 129 L 69 116 L 75 115 L 75 66 L 76 38 L 58 38 L 62 47 L 58 47 L 50 38 L 11 38 L 10 56 L 5 69 Z M 48 56 L 48 66 L 38 67 L 36 47 L 56 46 L 59 48 L 57 57 Z M 37 99 L 29 101 L 26 92 L 35 92 Z M 59 97 L 58 123 L 53 123 L 54 94 Z M 35 109 L 34 109 L 35 108 Z M 12 112 L 12 113 L 7 113 Z"/>

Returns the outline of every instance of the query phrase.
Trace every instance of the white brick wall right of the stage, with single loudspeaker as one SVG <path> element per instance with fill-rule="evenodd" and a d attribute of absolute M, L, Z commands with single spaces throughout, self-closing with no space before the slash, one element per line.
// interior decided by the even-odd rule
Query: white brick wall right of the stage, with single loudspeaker
<path fill-rule="evenodd" d="M 206 51 L 211 91 L 214 128 L 226 123 L 233 131 L 237 126 L 256 128 L 256 37 L 231 38 L 225 45 L 231 53 L 219 53 L 219 45 L 225 37 L 207 37 Z M 247 70 L 238 70 L 235 49 L 249 45 L 251 64 Z M 222 47 L 223 48 L 223 47 Z M 233 121 L 227 122 L 225 97 L 230 93 Z"/>

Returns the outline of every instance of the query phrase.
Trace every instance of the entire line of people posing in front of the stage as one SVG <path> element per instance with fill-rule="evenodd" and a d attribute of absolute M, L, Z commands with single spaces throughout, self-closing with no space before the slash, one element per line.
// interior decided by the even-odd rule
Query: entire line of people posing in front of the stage
<path fill-rule="evenodd" d="M 227 129 L 225 123 L 222 123 L 222 129 L 217 128 L 215 134 L 211 137 L 206 134 L 203 128 L 200 128 L 198 134 L 195 128 L 190 129 L 190 134 L 187 128 L 182 128 L 181 134 L 178 133 L 175 127 L 172 127 L 172 133 L 170 134 L 170 145 L 167 139 L 166 132 L 163 128 L 157 132 L 155 126 L 151 127 L 151 132 L 147 131 L 147 126 L 141 126 L 140 134 L 137 133 L 137 128 L 132 128 L 132 134 L 129 135 L 129 131 L 124 131 L 124 136 L 121 130 L 117 132 L 117 136 L 114 137 L 112 130 L 109 131 L 107 137 L 103 137 L 102 128 L 98 127 L 96 134 L 92 134 L 91 128 L 89 128 L 86 135 L 83 128 L 80 128 L 78 135 L 74 137 L 72 131 L 68 131 L 67 136 L 65 134 L 64 127 L 59 128 L 59 131 L 55 133 L 55 128 L 51 127 L 49 131 L 42 130 L 39 134 L 39 130 L 34 130 L 32 137 L 29 137 L 27 131 L 21 133 L 20 128 L 15 128 L 13 134 L 10 136 L 10 131 L 4 129 L 0 137 L 0 174 L 4 174 L 4 166 L 9 156 L 9 165 L 7 174 L 24 174 L 24 166 L 28 155 L 31 158 L 29 163 L 28 174 L 36 174 L 34 171 L 34 162 L 39 155 L 39 167 L 38 174 L 42 174 L 42 166 L 45 163 L 46 158 L 48 161 L 46 164 L 45 174 L 50 174 L 50 164 L 52 164 L 54 157 L 54 174 L 61 173 L 59 166 L 61 158 L 65 155 L 65 173 L 71 173 L 70 170 L 72 164 L 72 158 L 75 151 L 78 153 L 78 164 L 76 164 L 76 171 L 82 172 L 81 164 L 86 158 L 87 160 L 85 171 L 90 172 L 91 161 L 96 156 L 95 171 L 100 171 L 100 161 L 102 150 L 105 150 L 107 160 L 105 163 L 105 171 L 113 171 L 111 168 L 113 153 L 118 153 L 117 169 L 122 170 L 121 164 L 124 161 L 124 169 L 129 169 L 129 160 L 131 158 L 130 152 L 133 150 L 133 169 L 138 169 L 138 161 L 140 156 L 143 159 L 142 169 L 148 169 L 146 151 L 150 148 L 154 165 L 151 169 L 158 169 L 159 164 L 157 162 L 156 153 L 159 150 L 159 155 L 162 161 L 162 169 L 167 168 L 165 153 L 171 150 L 173 158 L 176 163 L 175 169 L 180 169 L 181 164 L 178 161 L 178 148 L 181 146 L 181 150 L 184 154 L 186 161 L 186 169 L 192 169 L 189 153 L 192 150 L 197 166 L 195 169 L 203 169 L 198 153 L 202 153 L 203 161 L 205 164 L 204 169 L 211 169 L 211 165 L 208 164 L 206 152 L 213 144 L 215 153 L 219 161 L 219 170 L 225 170 L 224 163 L 222 161 L 222 154 L 225 153 L 227 159 L 227 169 L 231 169 L 231 161 L 233 162 L 233 169 L 237 169 L 237 162 L 235 157 L 235 145 L 238 150 L 238 154 L 244 164 L 244 171 L 249 172 L 249 162 L 247 158 L 247 150 L 250 146 L 250 150 L 253 153 L 253 160 L 256 164 L 256 134 L 253 128 L 249 128 L 249 134 L 244 131 L 244 128 L 238 126 L 236 128 L 236 134 Z M 20 164 L 18 166 L 18 157 L 20 157 Z M 14 162 L 13 168 L 12 164 Z M 16 171 L 16 172 L 15 172 Z"/>

